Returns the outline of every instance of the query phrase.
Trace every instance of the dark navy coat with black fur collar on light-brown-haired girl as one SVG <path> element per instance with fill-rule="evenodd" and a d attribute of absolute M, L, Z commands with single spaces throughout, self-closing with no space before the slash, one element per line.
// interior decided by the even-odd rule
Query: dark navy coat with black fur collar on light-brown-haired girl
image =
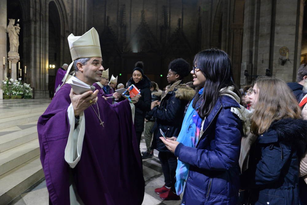
<path fill-rule="evenodd" d="M 307 121 L 275 121 L 252 145 L 241 176 L 247 204 L 299 204 L 299 159 L 305 151 Z"/>

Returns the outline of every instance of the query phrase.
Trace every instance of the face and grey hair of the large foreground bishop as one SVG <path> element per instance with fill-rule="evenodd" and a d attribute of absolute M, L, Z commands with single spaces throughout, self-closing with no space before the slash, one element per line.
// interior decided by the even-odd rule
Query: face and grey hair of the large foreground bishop
<path fill-rule="evenodd" d="M 84 81 L 88 85 L 92 85 L 95 82 L 101 81 L 102 71 L 102 58 L 93 57 L 87 61 L 85 65 L 78 67 L 81 71 L 81 77 L 77 76 L 80 80 Z M 77 72 L 79 74 L 79 72 Z"/>

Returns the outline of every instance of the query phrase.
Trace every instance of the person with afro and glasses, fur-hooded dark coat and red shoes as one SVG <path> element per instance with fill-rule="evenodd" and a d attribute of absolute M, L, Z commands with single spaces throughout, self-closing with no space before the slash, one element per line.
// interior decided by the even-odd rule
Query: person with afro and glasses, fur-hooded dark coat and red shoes
<path fill-rule="evenodd" d="M 195 91 L 183 84 L 182 81 L 184 77 L 188 76 L 189 68 L 189 63 L 182 58 L 170 62 L 169 73 L 167 74 L 170 88 L 161 98 L 161 103 L 158 101 L 151 103 L 151 111 L 148 112 L 148 115 L 157 118 L 152 129 L 152 149 L 159 151 L 158 157 L 161 162 L 165 184 L 154 191 L 163 200 L 180 200 L 180 196 L 176 195 L 175 190 L 177 157 L 165 147 L 159 137 L 161 136 L 160 129 L 169 138 L 178 136 L 180 132 L 185 106 L 195 94 Z M 159 104 L 160 106 L 156 107 Z"/>

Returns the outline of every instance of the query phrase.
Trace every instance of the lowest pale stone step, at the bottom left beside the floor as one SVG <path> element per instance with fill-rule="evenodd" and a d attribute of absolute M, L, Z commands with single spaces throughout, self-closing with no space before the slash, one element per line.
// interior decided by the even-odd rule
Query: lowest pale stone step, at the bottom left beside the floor
<path fill-rule="evenodd" d="M 39 156 L 0 176 L 0 205 L 5 205 L 44 177 Z"/>

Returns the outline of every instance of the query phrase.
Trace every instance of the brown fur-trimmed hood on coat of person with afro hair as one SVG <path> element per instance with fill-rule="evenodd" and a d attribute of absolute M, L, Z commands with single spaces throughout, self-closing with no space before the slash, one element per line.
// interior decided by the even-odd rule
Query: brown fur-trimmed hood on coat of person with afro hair
<path fill-rule="evenodd" d="M 171 85 L 171 87 L 167 90 L 162 99 L 166 96 L 167 93 L 174 91 L 175 97 L 179 98 L 180 100 L 186 100 L 186 101 L 192 100 L 196 91 L 190 87 L 187 87 L 184 83 L 181 82 L 182 80 L 173 83 L 173 85 Z"/>

